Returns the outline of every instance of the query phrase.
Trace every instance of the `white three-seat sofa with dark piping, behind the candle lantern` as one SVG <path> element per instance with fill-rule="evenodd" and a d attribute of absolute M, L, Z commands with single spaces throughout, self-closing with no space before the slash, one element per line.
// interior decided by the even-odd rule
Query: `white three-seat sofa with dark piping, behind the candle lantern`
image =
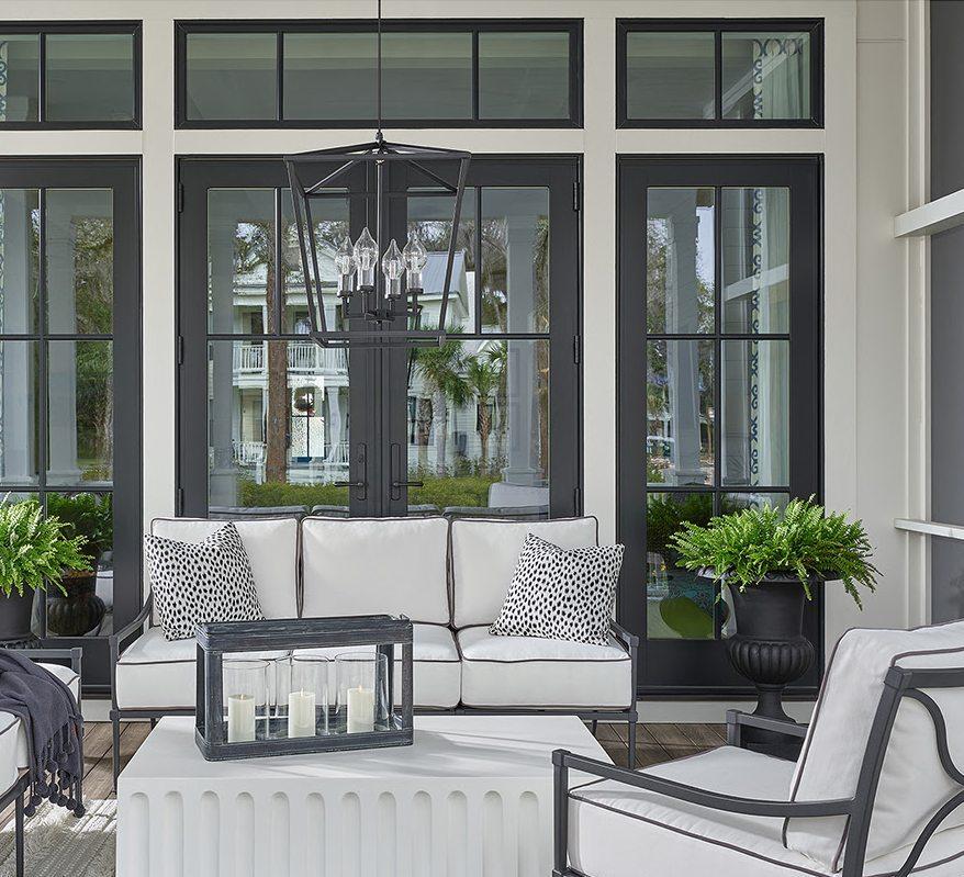
<path fill-rule="evenodd" d="M 190 542 L 223 526 L 162 518 L 152 532 Z M 235 526 L 267 618 L 412 619 L 416 709 L 556 709 L 629 721 L 635 732 L 636 638 L 617 625 L 604 646 L 489 634 L 527 533 L 563 548 L 596 544 L 595 518 L 307 517 Z M 194 709 L 194 641 L 168 642 L 152 616 L 148 600 L 111 638 L 115 729 L 122 718 Z"/>

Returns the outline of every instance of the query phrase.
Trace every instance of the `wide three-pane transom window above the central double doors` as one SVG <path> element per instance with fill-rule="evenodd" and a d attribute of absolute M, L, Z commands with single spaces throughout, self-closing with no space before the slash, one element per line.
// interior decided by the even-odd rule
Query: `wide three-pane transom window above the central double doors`
<path fill-rule="evenodd" d="M 570 127 L 582 122 L 582 24 L 386 21 L 385 122 Z M 365 127 L 375 122 L 373 21 L 180 22 L 179 127 Z"/>

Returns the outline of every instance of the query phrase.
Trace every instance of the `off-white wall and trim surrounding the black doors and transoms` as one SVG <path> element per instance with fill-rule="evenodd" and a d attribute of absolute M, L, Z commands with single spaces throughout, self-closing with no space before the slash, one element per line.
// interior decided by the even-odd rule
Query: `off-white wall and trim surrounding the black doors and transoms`
<path fill-rule="evenodd" d="M 370 12 L 373 14 L 374 2 Z M 367 139 L 370 131 L 173 131 L 176 19 L 359 16 L 358 0 L 0 0 L 0 21 L 144 20 L 143 132 L 9 132 L 0 153 L 141 154 L 144 159 L 144 519 L 173 510 L 175 156 L 280 154 Z M 922 200 L 924 0 L 384 0 L 392 16 L 585 19 L 581 131 L 393 131 L 475 153 L 584 156 L 585 507 L 615 538 L 616 154 L 822 153 L 826 173 L 826 498 L 862 516 L 881 589 L 860 617 L 838 591 L 828 644 L 853 623 L 922 620 L 926 564 L 893 519 L 926 510 L 923 245 L 892 217 Z M 798 131 L 617 131 L 619 16 L 822 16 L 826 126 Z M 412 142 L 412 140 L 410 140 Z"/>

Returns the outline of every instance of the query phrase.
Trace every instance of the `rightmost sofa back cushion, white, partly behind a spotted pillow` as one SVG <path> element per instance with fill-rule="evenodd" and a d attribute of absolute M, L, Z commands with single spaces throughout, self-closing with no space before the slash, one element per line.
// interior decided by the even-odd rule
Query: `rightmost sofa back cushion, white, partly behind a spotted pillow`
<path fill-rule="evenodd" d="M 585 548 L 598 544 L 599 522 L 592 517 L 453 520 L 452 618 L 457 628 L 495 621 L 529 533 L 559 548 Z"/>

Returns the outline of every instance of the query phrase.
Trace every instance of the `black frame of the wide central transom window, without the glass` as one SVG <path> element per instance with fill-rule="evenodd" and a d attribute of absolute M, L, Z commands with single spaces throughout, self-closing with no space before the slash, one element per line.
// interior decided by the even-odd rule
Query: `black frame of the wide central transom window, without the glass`
<path fill-rule="evenodd" d="M 472 117 L 404 119 L 390 124 L 406 128 L 581 128 L 583 126 L 583 22 L 582 19 L 384 19 L 384 33 L 469 33 L 472 35 Z M 250 21 L 175 22 L 175 127 L 201 130 L 260 128 L 367 128 L 375 119 L 284 119 L 284 34 L 285 33 L 374 33 L 374 19 L 260 19 Z M 569 34 L 569 117 L 568 119 L 480 119 L 479 34 L 481 33 L 568 33 Z M 189 34 L 274 34 L 274 119 L 199 120 L 188 119 L 187 38 Z"/>

